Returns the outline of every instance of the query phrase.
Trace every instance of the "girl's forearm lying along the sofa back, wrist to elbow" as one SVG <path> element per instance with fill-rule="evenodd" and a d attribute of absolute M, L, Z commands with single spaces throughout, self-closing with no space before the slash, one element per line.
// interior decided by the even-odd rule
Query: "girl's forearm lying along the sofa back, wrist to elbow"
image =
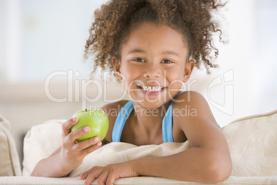
<path fill-rule="evenodd" d="M 230 165 L 221 161 L 223 159 L 218 159 L 204 148 L 194 147 L 175 155 L 136 159 L 132 161 L 132 165 L 139 175 L 214 183 L 222 181 L 229 175 Z"/>

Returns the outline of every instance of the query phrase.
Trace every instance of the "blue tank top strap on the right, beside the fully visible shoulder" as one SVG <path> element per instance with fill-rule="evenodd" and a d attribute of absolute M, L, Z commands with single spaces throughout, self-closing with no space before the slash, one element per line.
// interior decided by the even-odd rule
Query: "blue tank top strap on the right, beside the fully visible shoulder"
<path fill-rule="evenodd" d="M 179 92 L 173 99 L 172 103 L 170 104 L 170 107 L 167 108 L 167 111 L 165 113 L 165 117 L 163 117 L 163 142 L 174 142 L 173 136 L 172 136 L 172 105 L 174 102 L 174 99 L 178 97 L 182 92 Z"/>

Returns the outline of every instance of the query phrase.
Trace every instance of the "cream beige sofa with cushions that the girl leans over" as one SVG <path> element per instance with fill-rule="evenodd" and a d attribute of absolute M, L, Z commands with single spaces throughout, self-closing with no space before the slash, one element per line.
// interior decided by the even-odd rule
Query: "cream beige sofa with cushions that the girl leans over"
<path fill-rule="evenodd" d="M 10 123 L 0 117 L 0 184 L 83 184 L 84 181 L 78 176 L 92 166 L 125 162 L 138 157 L 171 155 L 189 148 L 189 142 L 148 146 L 111 143 L 85 157 L 83 164 L 72 171 L 69 177 L 30 177 L 35 164 L 48 157 L 61 144 L 63 121 L 50 120 L 29 130 L 24 139 L 21 174 L 19 158 L 9 132 Z M 223 127 L 222 131 L 229 144 L 233 170 L 219 184 L 277 184 L 277 110 L 238 119 Z M 130 177 L 118 179 L 115 184 L 198 183 L 160 177 Z"/>

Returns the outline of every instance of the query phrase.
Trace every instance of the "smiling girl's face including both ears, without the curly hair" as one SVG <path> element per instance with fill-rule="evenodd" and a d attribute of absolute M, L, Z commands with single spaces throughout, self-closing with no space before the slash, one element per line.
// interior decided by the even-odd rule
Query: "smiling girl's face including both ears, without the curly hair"
<path fill-rule="evenodd" d="M 122 44 L 121 60 L 113 57 L 114 72 L 134 104 L 158 108 L 189 79 L 194 61 L 187 61 L 187 53 L 180 33 L 166 25 L 141 23 Z"/>

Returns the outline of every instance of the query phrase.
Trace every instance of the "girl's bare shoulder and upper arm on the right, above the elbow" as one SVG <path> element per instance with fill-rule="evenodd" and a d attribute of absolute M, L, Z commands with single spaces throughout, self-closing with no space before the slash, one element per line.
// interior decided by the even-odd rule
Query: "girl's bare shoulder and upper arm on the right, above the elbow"
<path fill-rule="evenodd" d="M 181 93 L 172 107 L 174 124 L 185 133 L 191 146 L 203 146 L 223 135 L 205 97 L 194 91 Z"/>

